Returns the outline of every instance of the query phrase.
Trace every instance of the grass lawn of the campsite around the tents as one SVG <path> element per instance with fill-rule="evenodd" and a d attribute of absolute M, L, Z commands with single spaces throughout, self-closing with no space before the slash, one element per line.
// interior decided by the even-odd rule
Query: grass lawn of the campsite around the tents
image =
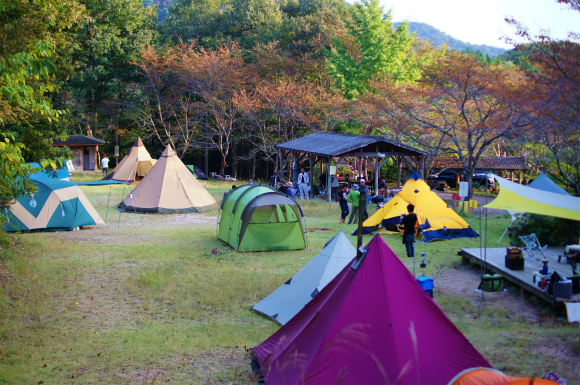
<path fill-rule="evenodd" d="M 98 174 L 73 177 L 87 178 Z M 207 183 L 218 201 L 230 187 Z M 123 185 L 83 191 L 107 226 L 16 234 L 0 250 L 0 384 L 253 384 L 246 349 L 279 325 L 249 306 L 304 266 L 336 231 L 355 228 L 339 224 L 338 205 L 304 202 L 306 227 L 331 230 L 308 232 L 306 250 L 236 252 L 216 238 L 218 211 L 119 216 L 114 207 L 127 195 Z M 479 232 L 479 218 L 467 219 Z M 490 247 L 508 223 L 507 215 L 489 218 Z M 405 256 L 399 236 L 383 238 Z M 530 321 L 438 293 L 438 277 L 470 269 L 457 251 L 480 242 L 417 245 L 427 253 L 420 273 L 435 277 L 436 302 L 498 369 L 540 376 L 555 370 L 573 384 L 580 378 L 580 329 L 561 312 L 506 293 L 540 314 Z"/>

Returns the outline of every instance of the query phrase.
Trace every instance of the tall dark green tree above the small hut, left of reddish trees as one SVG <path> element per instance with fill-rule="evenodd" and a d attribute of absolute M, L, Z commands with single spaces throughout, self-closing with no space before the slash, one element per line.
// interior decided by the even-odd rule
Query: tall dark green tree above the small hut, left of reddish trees
<path fill-rule="evenodd" d="M 131 63 L 154 41 L 157 15 L 141 0 L 83 3 L 88 18 L 75 34 L 71 61 L 76 71 L 65 86 L 66 102 L 70 125 L 94 136 L 111 127 L 119 107 L 130 102 L 138 80 L 138 67 Z"/>

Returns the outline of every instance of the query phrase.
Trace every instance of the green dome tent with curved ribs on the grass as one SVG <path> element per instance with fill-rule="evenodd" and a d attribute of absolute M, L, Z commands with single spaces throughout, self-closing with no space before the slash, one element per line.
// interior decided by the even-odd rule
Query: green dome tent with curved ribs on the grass
<path fill-rule="evenodd" d="M 222 202 L 218 239 L 241 251 L 306 247 L 302 209 L 268 186 L 243 185 Z"/>

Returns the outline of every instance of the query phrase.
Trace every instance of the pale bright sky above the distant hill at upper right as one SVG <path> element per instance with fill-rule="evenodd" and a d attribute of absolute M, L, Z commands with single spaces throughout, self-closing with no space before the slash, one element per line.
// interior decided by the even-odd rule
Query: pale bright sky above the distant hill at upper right
<path fill-rule="evenodd" d="M 550 31 L 565 38 L 580 33 L 580 12 L 556 0 L 380 0 L 385 12 L 392 9 L 393 22 L 429 24 L 451 37 L 471 43 L 511 49 L 502 37 L 515 38 L 515 28 L 505 22 L 513 17 L 531 32 Z"/>

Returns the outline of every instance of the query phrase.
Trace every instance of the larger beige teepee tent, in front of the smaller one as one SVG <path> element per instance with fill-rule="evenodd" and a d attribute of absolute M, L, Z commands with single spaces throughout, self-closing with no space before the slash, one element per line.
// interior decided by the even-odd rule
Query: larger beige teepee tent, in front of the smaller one
<path fill-rule="evenodd" d="M 217 207 L 216 200 L 195 179 L 170 145 L 119 208 L 160 214 L 201 212 Z"/>

